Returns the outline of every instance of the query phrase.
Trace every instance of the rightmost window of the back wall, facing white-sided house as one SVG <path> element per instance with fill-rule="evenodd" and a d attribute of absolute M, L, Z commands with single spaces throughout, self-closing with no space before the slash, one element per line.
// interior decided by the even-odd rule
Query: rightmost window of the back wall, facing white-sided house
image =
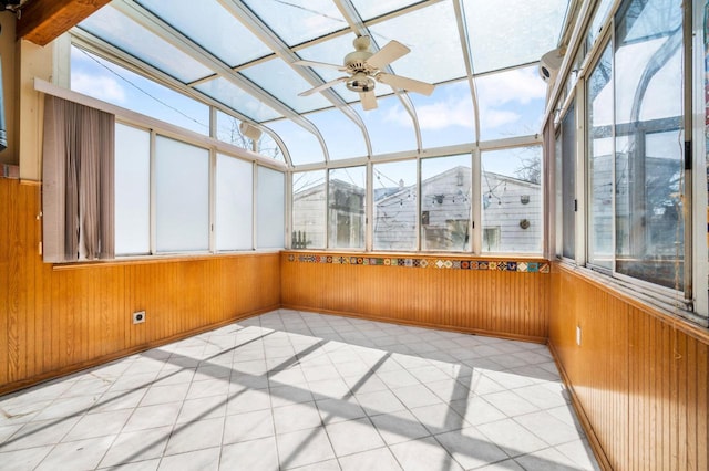
<path fill-rule="evenodd" d="M 483 251 L 542 252 L 542 147 L 483 151 L 481 178 Z"/>

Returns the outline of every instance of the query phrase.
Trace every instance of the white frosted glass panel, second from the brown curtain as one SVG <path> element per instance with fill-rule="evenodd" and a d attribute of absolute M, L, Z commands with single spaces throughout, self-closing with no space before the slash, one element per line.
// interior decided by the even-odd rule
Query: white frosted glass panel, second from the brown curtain
<path fill-rule="evenodd" d="M 209 249 L 209 151 L 157 136 L 155 210 L 158 252 Z"/>

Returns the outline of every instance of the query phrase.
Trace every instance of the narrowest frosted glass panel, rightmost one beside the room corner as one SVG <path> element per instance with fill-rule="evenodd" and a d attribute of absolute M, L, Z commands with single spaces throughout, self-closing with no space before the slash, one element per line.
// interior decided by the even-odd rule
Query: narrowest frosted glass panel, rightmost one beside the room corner
<path fill-rule="evenodd" d="M 258 167 L 256 190 L 256 247 L 280 249 L 286 233 L 286 182 L 280 171 Z"/>

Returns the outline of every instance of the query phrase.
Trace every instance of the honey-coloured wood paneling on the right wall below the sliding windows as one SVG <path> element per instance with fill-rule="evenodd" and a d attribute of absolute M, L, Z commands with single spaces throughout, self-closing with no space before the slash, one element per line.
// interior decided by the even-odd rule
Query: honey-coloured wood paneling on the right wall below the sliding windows
<path fill-rule="evenodd" d="M 606 467 L 709 469 L 709 333 L 563 265 L 551 287 L 549 345 Z"/>

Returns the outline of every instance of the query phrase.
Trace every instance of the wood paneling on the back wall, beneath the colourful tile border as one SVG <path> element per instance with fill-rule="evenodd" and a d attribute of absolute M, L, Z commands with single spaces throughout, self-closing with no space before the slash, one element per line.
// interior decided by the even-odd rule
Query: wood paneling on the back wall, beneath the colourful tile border
<path fill-rule="evenodd" d="M 546 342 L 549 274 L 434 266 L 460 257 L 417 255 L 429 263 L 422 269 L 308 263 L 299 254 L 281 255 L 285 307 Z"/>

